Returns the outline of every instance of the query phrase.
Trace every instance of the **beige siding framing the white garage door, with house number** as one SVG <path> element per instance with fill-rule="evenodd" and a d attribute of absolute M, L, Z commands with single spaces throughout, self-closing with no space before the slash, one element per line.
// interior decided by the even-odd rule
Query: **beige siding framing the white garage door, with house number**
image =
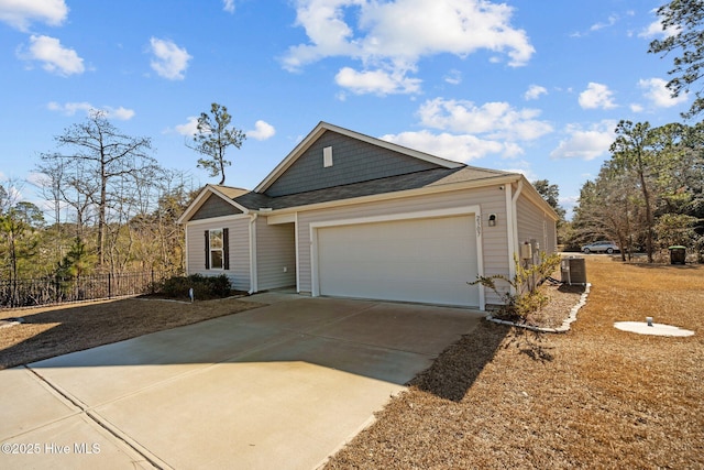
<path fill-rule="evenodd" d="M 507 274 L 508 258 L 506 255 L 506 247 L 508 245 L 508 240 L 506 232 L 505 201 L 505 193 L 499 189 L 499 186 L 497 185 L 479 189 L 462 189 L 457 192 L 404 197 L 398 199 L 342 206 L 339 208 L 298 212 L 299 291 L 306 293 L 312 292 L 310 223 L 437 209 L 452 209 L 466 206 L 481 207 L 482 230 L 485 234 L 482 237 L 484 274 Z M 499 222 L 496 227 L 488 227 L 486 219 L 490 214 L 497 215 Z M 439 242 L 441 242 L 441 240 L 439 240 Z M 488 297 L 487 300 L 490 300 Z"/>

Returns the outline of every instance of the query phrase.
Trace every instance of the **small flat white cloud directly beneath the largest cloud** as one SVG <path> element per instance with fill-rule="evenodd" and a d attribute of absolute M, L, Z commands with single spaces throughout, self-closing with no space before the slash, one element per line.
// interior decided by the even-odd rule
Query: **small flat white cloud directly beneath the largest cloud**
<path fill-rule="evenodd" d="M 420 91 L 419 78 L 406 77 L 404 73 L 385 70 L 356 72 L 350 67 L 343 67 L 336 75 L 338 85 L 356 95 L 363 94 L 410 94 Z"/>

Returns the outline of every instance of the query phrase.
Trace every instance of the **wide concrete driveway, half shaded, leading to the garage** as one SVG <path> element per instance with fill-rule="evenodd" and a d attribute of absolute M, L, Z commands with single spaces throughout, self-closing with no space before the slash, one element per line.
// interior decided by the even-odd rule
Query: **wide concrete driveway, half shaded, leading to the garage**
<path fill-rule="evenodd" d="M 0 371 L 0 468 L 314 469 L 479 311 L 271 305 Z"/>

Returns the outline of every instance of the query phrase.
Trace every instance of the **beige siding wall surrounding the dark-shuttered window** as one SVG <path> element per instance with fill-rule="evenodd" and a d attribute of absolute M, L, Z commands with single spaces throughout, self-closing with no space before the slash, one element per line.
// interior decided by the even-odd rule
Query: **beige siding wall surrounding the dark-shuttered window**
<path fill-rule="evenodd" d="M 204 232 L 210 229 L 229 229 L 230 269 L 206 270 L 206 247 Z M 250 218 L 189 222 L 186 226 L 188 240 L 188 274 L 217 276 L 226 274 L 232 287 L 238 291 L 250 289 Z"/>

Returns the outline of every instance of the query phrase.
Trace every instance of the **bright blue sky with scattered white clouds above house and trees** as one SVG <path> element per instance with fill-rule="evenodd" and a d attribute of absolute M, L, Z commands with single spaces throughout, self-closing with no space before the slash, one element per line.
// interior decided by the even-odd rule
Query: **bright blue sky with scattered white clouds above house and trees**
<path fill-rule="evenodd" d="M 620 119 L 681 121 L 664 88 L 664 0 L 0 0 L 0 179 L 32 182 L 54 136 L 108 113 L 154 156 L 228 107 L 246 132 L 226 184 L 253 188 L 319 121 L 549 179 L 568 210 Z"/>

